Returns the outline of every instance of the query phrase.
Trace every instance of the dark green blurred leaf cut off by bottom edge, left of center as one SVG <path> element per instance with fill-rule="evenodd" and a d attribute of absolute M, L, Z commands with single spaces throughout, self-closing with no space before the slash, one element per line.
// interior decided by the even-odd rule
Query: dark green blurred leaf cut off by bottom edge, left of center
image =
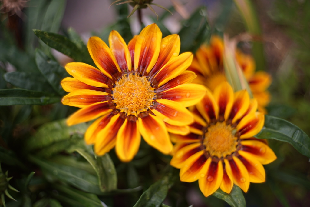
<path fill-rule="evenodd" d="M 91 193 L 86 193 L 79 191 L 77 189 L 66 187 L 63 185 L 53 184 L 55 188 L 60 193 L 55 194 L 54 197 L 57 200 L 60 200 L 62 203 L 66 204 L 65 206 L 72 207 L 102 207 L 101 201 L 98 197 Z"/>

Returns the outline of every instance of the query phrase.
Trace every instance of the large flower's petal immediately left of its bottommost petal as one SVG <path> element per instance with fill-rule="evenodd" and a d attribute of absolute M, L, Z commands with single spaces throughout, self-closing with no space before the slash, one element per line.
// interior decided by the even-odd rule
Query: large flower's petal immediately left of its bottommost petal
<path fill-rule="evenodd" d="M 104 155 L 115 146 L 117 132 L 124 121 L 120 114 L 117 114 L 97 133 L 95 141 L 95 152 L 97 155 Z"/>

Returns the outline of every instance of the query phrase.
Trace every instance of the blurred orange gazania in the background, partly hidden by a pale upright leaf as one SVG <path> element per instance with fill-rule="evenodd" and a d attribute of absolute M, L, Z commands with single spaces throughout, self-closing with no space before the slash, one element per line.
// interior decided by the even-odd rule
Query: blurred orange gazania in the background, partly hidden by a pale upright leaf
<path fill-rule="evenodd" d="M 223 40 L 212 36 L 210 45 L 202 45 L 195 54 L 192 65 L 188 70 L 197 74 L 195 83 L 203 84 L 214 91 L 215 87 L 226 81 L 223 67 Z M 249 83 L 253 97 L 258 102 L 259 111 L 266 113 L 265 106 L 270 102 L 267 88 L 271 84 L 271 76 L 264 72 L 255 72 L 255 62 L 250 55 L 241 51 L 236 52 L 236 61 L 241 67 Z"/>

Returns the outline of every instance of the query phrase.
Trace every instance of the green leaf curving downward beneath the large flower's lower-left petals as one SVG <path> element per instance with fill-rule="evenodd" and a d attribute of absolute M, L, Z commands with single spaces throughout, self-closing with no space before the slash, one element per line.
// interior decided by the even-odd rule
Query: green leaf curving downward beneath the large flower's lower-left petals
<path fill-rule="evenodd" d="M 94 155 L 91 155 L 81 148 L 78 148 L 75 151 L 82 155 L 96 171 L 99 179 L 99 187 L 102 192 L 117 189 L 117 174 L 113 161 L 108 153 L 103 156 L 97 156 L 95 159 Z"/>

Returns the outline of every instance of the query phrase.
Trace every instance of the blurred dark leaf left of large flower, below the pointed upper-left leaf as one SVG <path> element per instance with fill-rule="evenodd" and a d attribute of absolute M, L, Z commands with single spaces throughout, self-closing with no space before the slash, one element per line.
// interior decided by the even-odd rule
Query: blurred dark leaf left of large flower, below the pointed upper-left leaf
<path fill-rule="evenodd" d="M 36 51 L 35 57 L 38 69 L 45 77 L 47 82 L 51 85 L 52 88 L 54 88 L 55 92 L 57 92 L 59 95 L 63 95 L 65 91 L 62 89 L 60 81 L 69 76 L 67 71 L 56 61 L 51 60 L 40 50 Z"/>

